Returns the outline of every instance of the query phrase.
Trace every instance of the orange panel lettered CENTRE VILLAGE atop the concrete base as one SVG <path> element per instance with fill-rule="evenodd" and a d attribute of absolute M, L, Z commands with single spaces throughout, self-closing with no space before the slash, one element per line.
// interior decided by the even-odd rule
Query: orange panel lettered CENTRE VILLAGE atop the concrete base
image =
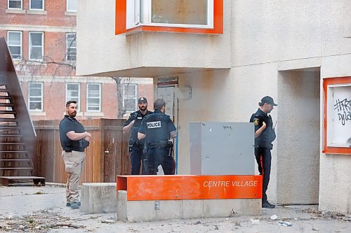
<path fill-rule="evenodd" d="M 128 201 L 262 198 L 262 176 L 117 176 Z"/>

